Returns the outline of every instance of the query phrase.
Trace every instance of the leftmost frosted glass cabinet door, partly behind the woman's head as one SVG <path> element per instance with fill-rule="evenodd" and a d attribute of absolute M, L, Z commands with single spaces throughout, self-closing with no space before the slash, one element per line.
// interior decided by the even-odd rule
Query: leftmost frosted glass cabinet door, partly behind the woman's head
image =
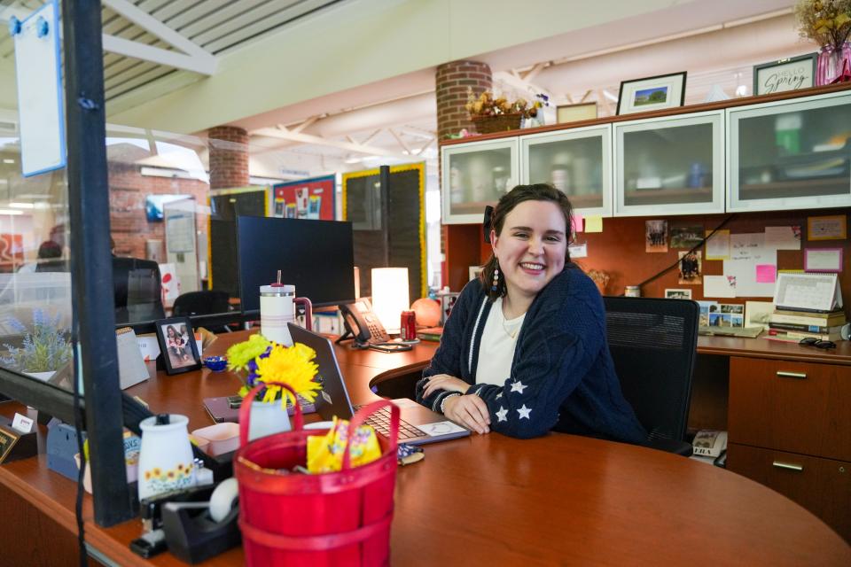
<path fill-rule="evenodd" d="M 481 222 L 485 206 L 517 184 L 517 148 L 517 138 L 442 148 L 444 224 Z"/>

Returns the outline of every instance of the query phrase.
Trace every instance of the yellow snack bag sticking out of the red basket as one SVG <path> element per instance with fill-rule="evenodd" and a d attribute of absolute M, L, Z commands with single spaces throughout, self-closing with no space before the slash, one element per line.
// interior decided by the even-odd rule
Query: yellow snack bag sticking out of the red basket
<path fill-rule="evenodd" d="M 308 437 L 308 471 L 311 474 L 336 472 L 343 466 L 343 454 L 348 440 L 348 422 L 345 419 L 334 421 L 325 435 Z M 370 425 L 361 425 L 355 431 L 355 437 L 349 447 L 349 460 L 354 469 L 373 462 L 381 456 L 379 439 Z"/>

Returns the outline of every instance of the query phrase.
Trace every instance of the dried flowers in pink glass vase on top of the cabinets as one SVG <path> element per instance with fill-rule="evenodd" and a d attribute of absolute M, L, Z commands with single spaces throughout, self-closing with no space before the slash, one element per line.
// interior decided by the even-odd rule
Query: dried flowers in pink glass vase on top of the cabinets
<path fill-rule="evenodd" d="M 816 85 L 851 78 L 851 0 L 800 0 L 795 6 L 800 36 L 819 44 Z"/>

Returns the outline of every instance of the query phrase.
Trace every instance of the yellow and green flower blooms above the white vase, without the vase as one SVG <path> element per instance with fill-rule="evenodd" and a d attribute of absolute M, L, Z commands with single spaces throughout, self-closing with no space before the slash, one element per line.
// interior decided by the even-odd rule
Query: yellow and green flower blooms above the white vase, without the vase
<path fill-rule="evenodd" d="M 309 346 L 301 343 L 293 346 L 278 345 L 256 334 L 228 349 L 228 369 L 247 372 L 245 382 L 239 389 L 239 395 L 243 398 L 257 384 L 284 382 L 305 399 L 313 401 L 322 388 L 321 384 L 314 380 L 318 369 L 314 358 L 316 351 Z M 286 400 L 296 403 L 291 392 L 277 385 L 263 388 L 257 394 L 256 400 L 281 400 L 284 407 Z"/>

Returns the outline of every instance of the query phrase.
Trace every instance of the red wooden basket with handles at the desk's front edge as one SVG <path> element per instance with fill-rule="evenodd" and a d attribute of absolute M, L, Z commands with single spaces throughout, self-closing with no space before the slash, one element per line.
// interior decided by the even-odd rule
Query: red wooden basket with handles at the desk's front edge
<path fill-rule="evenodd" d="M 293 392 L 287 384 L 280 385 Z M 253 400 L 262 384 L 248 393 Z M 293 392 L 294 394 L 295 392 Z M 251 404 L 239 409 L 241 447 L 233 469 L 239 482 L 239 528 L 246 563 L 321 567 L 324 565 L 386 565 L 390 561 L 390 522 L 396 481 L 399 408 L 386 400 L 361 408 L 349 431 L 376 410 L 391 408 L 390 439 L 379 435 L 381 457 L 350 467 L 349 436 L 342 470 L 324 474 L 292 474 L 307 462 L 308 435 L 299 404 L 294 404 L 293 431 L 248 443 Z"/>

